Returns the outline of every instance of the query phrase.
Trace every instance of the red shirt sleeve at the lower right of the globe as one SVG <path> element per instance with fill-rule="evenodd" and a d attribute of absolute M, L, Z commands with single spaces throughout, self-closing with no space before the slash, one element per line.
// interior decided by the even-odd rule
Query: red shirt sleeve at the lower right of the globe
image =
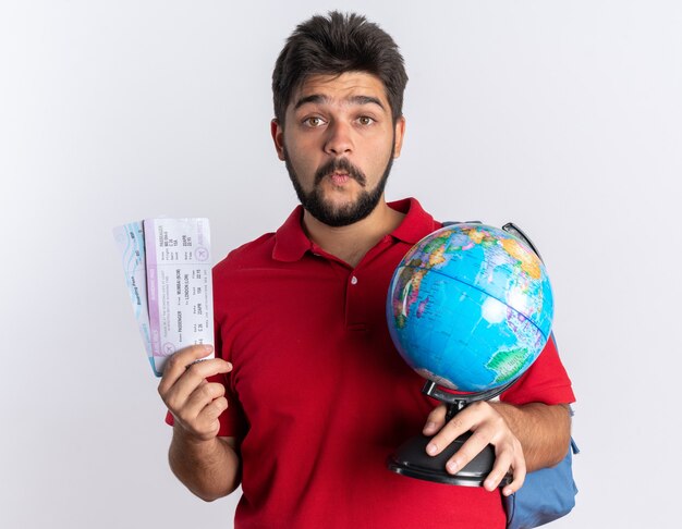
<path fill-rule="evenodd" d="M 575 402 L 571 380 L 559 358 L 553 334 L 528 370 L 500 395 L 500 401 L 517 405 L 528 403 L 553 405 Z"/>

